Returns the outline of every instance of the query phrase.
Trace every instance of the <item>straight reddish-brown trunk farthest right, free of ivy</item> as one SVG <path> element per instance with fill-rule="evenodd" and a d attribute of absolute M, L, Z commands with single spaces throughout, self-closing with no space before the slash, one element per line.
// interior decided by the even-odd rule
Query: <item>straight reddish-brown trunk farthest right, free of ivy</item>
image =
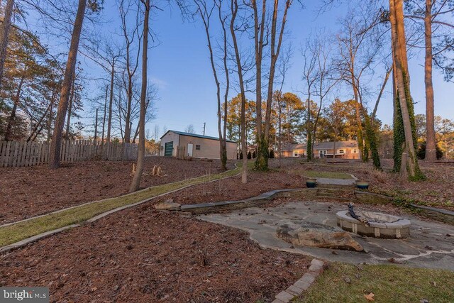
<path fill-rule="evenodd" d="M 435 141 L 435 122 L 433 113 L 432 84 L 432 0 L 426 0 L 424 15 L 424 39 L 426 41 L 426 62 L 424 64 L 424 83 L 426 84 L 426 161 L 437 159 Z"/>

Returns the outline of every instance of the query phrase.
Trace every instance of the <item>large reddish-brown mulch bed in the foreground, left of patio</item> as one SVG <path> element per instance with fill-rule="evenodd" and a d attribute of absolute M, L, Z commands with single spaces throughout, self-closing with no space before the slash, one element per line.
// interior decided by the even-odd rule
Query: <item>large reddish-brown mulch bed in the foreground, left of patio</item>
<path fill-rule="evenodd" d="M 148 203 L 0 257 L 0 286 L 50 287 L 51 302 L 271 302 L 309 258 Z"/>

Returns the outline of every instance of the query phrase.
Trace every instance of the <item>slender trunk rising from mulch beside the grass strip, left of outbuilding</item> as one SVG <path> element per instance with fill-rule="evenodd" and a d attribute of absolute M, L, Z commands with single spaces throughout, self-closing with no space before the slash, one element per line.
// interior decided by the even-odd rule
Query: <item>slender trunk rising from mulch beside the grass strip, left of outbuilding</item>
<path fill-rule="evenodd" d="M 147 99 L 147 55 L 148 55 L 148 23 L 150 17 L 150 0 L 140 0 L 145 4 L 145 18 L 143 21 L 143 53 L 142 53 L 142 87 L 140 91 L 140 119 L 139 119 L 139 143 L 137 165 L 129 192 L 135 192 L 140 187 L 143 167 L 145 165 L 145 111 Z"/>

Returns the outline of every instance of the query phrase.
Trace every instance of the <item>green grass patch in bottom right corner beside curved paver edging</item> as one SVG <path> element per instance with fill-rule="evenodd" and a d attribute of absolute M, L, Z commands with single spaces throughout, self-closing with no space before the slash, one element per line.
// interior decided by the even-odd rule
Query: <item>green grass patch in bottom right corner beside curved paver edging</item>
<path fill-rule="evenodd" d="M 397 265 L 355 265 L 332 263 L 303 299 L 294 302 L 367 302 L 365 294 L 374 293 L 374 302 L 453 302 L 454 272 L 405 268 Z M 345 280 L 350 279 L 350 283 Z"/>

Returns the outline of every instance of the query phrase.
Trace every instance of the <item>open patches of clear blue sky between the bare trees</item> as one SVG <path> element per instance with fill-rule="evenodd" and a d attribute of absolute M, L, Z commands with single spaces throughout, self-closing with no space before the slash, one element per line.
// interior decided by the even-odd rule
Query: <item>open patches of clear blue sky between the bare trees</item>
<path fill-rule="evenodd" d="M 104 31 L 112 31 L 116 26 L 118 16 L 114 1 L 106 1 L 102 15 L 111 18 L 111 22 L 104 24 Z M 287 41 L 292 42 L 294 55 L 292 67 L 287 73 L 284 92 L 295 92 L 303 88 L 301 82 L 302 57 L 299 52 L 301 43 L 311 31 L 325 28 L 327 32 L 338 31 L 338 18 L 345 15 L 346 9 L 333 8 L 319 16 L 316 14 L 316 5 L 319 1 L 306 1 L 305 8 L 294 5 L 289 11 Z M 86 23 L 86 26 L 89 23 Z M 157 85 L 160 99 L 156 102 L 157 118 L 148 123 L 146 128 L 153 131 L 155 125 L 167 129 L 183 131 L 186 126 L 193 124 L 196 133 L 201 133 L 206 123 L 206 135 L 217 136 L 216 117 L 216 86 L 214 84 L 209 53 L 206 47 L 204 28 L 200 23 L 182 21 L 176 8 L 165 8 L 150 20 L 150 26 L 160 40 L 160 45 L 149 51 L 148 77 L 150 82 Z M 335 45 L 333 45 L 335 47 Z M 84 60 L 84 70 L 92 75 L 101 70 L 94 63 Z M 265 59 L 268 60 L 268 59 Z M 425 111 L 425 91 L 423 82 L 423 53 L 419 53 L 410 61 L 411 94 L 414 98 L 416 114 Z M 380 85 L 383 75 L 377 72 L 376 86 Z M 372 84 L 373 85 L 373 84 Z M 433 86 L 435 92 L 436 115 L 454 119 L 454 84 L 443 81 L 438 70 L 434 70 Z M 389 93 L 391 86 L 387 86 L 377 117 L 383 123 L 392 124 L 392 96 Z M 90 85 L 90 93 L 94 94 L 96 84 Z M 297 93 L 297 92 L 296 92 Z M 235 90 L 231 96 L 236 95 Z M 327 101 L 334 97 L 346 99 L 349 92 L 339 90 L 332 92 Z M 302 96 L 301 96 L 302 97 Z M 90 112 L 85 113 L 86 117 Z"/>

